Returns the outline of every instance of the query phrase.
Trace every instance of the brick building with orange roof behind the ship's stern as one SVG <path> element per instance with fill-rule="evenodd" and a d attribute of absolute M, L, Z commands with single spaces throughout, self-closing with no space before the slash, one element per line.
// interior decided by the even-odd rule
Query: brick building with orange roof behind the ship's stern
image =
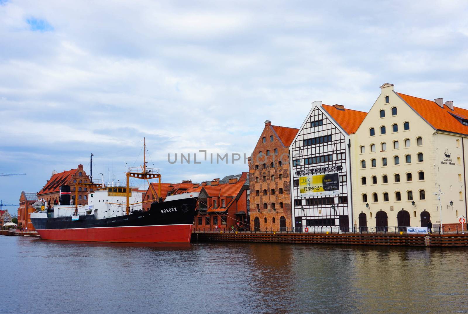
<path fill-rule="evenodd" d="M 70 186 L 70 191 L 72 192 L 72 198 L 75 199 L 75 183 L 89 183 L 89 177 L 86 172 L 83 170 L 83 165 L 78 165 L 76 169 L 70 169 L 68 171 L 64 170 L 63 172 L 52 172 L 52 176 L 47 183 L 45 183 L 42 190 L 37 192 L 37 198 L 44 198 L 47 201 L 47 204 L 59 204 L 60 197 L 60 186 L 68 185 Z M 84 205 L 88 204 L 88 189 L 87 188 L 78 188 L 78 200 L 76 203 Z"/>

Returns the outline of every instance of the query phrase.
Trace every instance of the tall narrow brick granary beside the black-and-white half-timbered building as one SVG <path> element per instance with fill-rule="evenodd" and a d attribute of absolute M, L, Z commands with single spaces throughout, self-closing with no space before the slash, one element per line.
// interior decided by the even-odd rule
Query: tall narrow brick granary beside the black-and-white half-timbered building
<path fill-rule="evenodd" d="M 292 226 L 289 146 L 298 131 L 265 121 L 249 158 L 252 229 L 280 230 Z"/>

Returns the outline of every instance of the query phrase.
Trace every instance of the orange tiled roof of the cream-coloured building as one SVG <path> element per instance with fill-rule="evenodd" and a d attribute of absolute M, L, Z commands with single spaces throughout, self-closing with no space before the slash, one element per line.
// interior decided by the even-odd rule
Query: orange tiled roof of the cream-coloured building
<path fill-rule="evenodd" d="M 453 111 L 444 104 L 444 108 L 431 100 L 418 98 L 410 95 L 396 93 L 399 95 L 411 108 L 413 108 L 427 123 L 440 131 L 449 131 L 454 133 L 468 134 L 468 125 L 461 124 L 450 113 L 460 117 L 468 117 L 468 110 L 458 107 L 453 107 Z"/>

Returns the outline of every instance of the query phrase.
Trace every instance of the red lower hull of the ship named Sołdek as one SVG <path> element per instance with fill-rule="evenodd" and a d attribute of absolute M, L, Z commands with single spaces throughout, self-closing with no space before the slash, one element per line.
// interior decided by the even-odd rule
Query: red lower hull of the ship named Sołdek
<path fill-rule="evenodd" d="M 37 229 L 44 240 L 123 242 L 123 243 L 189 243 L 192 224 L 161 226 L 122 226 L 75 229 Z"/>

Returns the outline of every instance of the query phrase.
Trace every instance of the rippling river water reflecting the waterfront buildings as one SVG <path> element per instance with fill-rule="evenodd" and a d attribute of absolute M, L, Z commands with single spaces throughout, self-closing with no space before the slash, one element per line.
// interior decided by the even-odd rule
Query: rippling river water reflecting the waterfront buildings
<path fill-rule="evenodd" d="M 0 313 L 468 313 L 467 248 L 0 236 Z"/>

